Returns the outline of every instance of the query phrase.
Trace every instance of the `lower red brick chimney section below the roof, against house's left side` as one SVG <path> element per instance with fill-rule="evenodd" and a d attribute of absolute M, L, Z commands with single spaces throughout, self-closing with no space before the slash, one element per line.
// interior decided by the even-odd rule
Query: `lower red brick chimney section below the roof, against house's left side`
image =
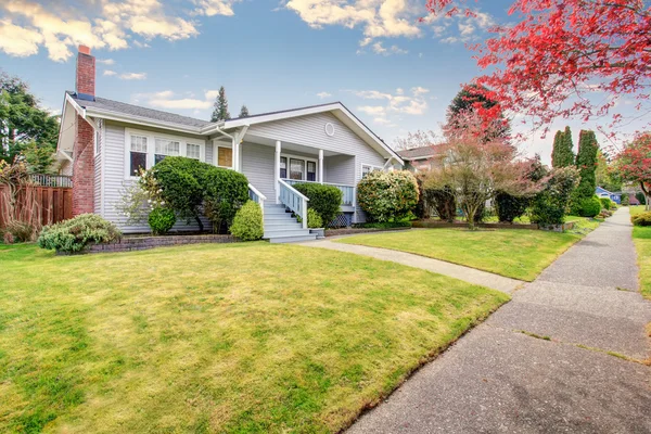
<path fill-rule="evenodd" d="M 73 217 L 94 212 L 94 130 L 77 115 L 73 164 Z"/>

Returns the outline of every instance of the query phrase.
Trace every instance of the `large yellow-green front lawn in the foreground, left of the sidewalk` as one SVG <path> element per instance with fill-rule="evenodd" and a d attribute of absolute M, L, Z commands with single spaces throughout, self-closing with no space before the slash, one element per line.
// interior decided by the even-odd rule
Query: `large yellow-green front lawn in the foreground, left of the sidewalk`
<path fill-rule="evenodd" d="M 9 432 L 337 432 L 508 299 L 267 243 L 0 264 Z"/>

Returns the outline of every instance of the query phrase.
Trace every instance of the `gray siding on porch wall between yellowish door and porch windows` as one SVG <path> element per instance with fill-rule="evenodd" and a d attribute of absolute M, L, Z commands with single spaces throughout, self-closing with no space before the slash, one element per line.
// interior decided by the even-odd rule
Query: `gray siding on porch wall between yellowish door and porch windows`
<path fill-rule="evenodd" d="M 242 174 L 253 187 L 267 196 L 268 201 L 275 201 L 273 166 L 276 149 L 264 144 L 244 142 L 241 150 Z"/>

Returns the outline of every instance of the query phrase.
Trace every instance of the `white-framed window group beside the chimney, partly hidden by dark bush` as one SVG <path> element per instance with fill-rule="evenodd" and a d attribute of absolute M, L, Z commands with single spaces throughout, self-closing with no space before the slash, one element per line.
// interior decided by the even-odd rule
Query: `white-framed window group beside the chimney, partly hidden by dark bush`
<path fill-rule="evenodd" d="M 153 131 L 125 128 L 125 178 L 140 175 L 166 156 L 186 156 L 203 161 L 205 142 Z"/>

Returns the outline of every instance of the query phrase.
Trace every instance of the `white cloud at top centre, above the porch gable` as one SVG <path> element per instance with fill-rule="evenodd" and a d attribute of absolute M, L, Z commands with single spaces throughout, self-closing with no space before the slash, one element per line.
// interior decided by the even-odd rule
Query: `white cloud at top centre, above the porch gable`
<path fill-rule="evenodd" d="M 290 0 L 285 8 L 294 11 L 312 28 L 339 25 L 348 28 L 361 27 L 366 47 L 375 38 L 422 36 L 417 24 L 419 9 L 412 0 Z"/>

